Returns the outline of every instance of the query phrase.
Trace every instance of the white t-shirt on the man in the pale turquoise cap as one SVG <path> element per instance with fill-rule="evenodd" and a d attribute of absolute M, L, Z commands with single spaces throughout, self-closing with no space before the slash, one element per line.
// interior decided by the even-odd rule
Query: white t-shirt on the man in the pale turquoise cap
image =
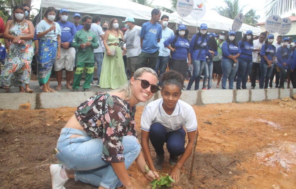
<path fill-rule="evenodd" d="M 125 32 L 124 39 L 126 41 L 126 57 L 138 56 L 141 51 L 141 27 L 134 26 L 132 30 L 128 29 Z"/>

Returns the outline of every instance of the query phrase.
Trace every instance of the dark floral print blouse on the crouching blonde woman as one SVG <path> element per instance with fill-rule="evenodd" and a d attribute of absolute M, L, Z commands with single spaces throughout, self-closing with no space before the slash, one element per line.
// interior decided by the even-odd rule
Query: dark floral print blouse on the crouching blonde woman
<path fill-rule="evenodd" d="M 123 162 L 123 136 L 137 137 L 135 111 L 126 100 L 102 92 L 80 104 L 75 116 L 89 136 L 103 139 L 103 160 Z"/>

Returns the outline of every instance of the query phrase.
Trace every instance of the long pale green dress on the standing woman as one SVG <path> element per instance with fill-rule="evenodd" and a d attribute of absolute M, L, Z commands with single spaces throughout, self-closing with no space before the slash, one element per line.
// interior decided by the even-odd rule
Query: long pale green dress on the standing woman
<path fill-rule="evenodd" d="M 118 43 L 118 38 L 120 37 L 115 37 L 110 33 L 107 44 Z M 114 45 L 110 45 L 109 48 L 116 48 L 116 51 L 114 56 L 108 56 L 105 50 L 100 76 L 100 87 L 116 89 L 127 83 L 128 79 L 125 74 L 121 48 Z"/>

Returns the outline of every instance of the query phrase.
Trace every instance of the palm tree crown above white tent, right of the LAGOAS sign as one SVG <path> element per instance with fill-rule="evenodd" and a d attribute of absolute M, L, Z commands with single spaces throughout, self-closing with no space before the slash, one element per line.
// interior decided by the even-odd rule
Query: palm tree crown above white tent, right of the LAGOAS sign
<path fill-rule="evenodd" d="M 216 7 L 215 10 L 218 14 L 225 16 L 227 18 L 234 19 L 238 13 L 243 12 L 246 5 L 240 7 L 239 0 L 223 0 L 226 3 L 226 7 Z"/>

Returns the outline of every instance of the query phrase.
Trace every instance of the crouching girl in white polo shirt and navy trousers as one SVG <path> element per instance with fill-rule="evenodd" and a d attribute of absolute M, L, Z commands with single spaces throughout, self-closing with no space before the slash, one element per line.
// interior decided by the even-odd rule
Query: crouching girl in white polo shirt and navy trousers
<path fill-rule="evenodd" d="M 169 164 L 174 165 L 171 177 L 178 183 L 180 169 L 192 152 L 197 120 L 191 105 L 179 100 L 184 87 L 184 77 L 178 72 L 168 71 L 161 77 L 162 98 L 146 105 L 141 118 L 141 144 L 146 160 L 153 171 L 161 170 L 164 163 L 163 145 L 167 143 Z M 188 144 L 185 137 L 187 130 Z M 157 154 L 152 161 L 149 139 Z M 178 156 L 181 158 L 178 160 Z"/>

